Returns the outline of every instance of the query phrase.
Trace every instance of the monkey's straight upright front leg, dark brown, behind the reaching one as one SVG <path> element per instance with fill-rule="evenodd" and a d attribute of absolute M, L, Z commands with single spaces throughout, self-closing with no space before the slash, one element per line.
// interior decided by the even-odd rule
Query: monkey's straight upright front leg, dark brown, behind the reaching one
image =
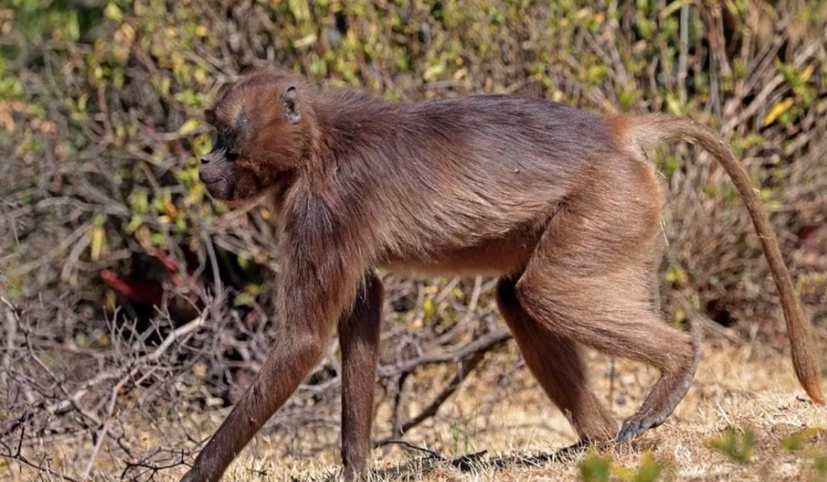
<path fill-rule="evenodd" d="M 345 480 L 365 474 L 373 422 L 373 390 L 379 362 L 382 282 L 372 272 L 352 310 L 339 321 L 342 345 L 342 464 Z"/>

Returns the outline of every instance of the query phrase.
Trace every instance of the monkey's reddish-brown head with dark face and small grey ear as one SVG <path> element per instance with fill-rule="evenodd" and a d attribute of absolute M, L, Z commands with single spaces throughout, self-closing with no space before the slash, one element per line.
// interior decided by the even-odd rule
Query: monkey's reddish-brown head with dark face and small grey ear
<path fill-rule="evenodd" d="M 199 177 L 213 198 L 244 201 L 293 176 L 316 137 L 309 89 L 289 74 L 260 70 L 205 112 L 217 136 Z"/>

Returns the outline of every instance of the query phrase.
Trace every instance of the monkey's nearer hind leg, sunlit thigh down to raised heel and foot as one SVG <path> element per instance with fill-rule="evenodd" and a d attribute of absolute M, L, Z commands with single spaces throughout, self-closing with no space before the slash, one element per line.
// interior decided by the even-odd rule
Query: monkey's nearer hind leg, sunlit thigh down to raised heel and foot
<path fill-rule="evenodd" d="M 549 223 L 517 283 L 520 304 L 557 336 L 661 372 L 617 441 L 666 421 L 695 376 L 693 336 L 667 326 L 652 303 L 661 198 L 652 166 L 617 160 L 595 169 Z"/>

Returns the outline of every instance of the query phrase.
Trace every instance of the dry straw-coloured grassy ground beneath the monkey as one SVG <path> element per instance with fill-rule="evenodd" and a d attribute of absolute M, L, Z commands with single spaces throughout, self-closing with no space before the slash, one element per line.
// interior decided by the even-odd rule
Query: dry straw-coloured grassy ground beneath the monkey
<path fill-rule="evenodd" d="M 640 365 L 618 362 L 616 375 L 611 377 L 610 360 L 595 355 L 589 359 L 597 389 L 600 394 L 612 394 L 612 411 L 621 420 L 637 406 L 655 374 Z M 429 375 L 442 383 L 444 374 Z M 433 381 L 423 384 L 437 385 Z M 509 391 L 507 401 L 500 401 L 503 390 Z M 380 435 L 387 433 L 386 412 L 383 407 L 378 410 L 376 432 Z M 224 415 L 170 410 L 170 415 L 175 413 L 186 420 L 186 427 L 165 421 L 135 422 L 135 431 L 145 434 L 142 440 L 147 449 L 179 446 L 184 440 L 182 429 L 206 436 Z M 610 480 L 644 481 L 653 480 L 646 470 L 657 471 L 658 467 L 657 480 L 825 480 L 827 432 L 822 427 L 827 427 L 827 412 L 804 398 L 786 356 L 762 347 L 707 342 L 695 384 L 664 426 L 631 445 L 609 447 L 602 455 L 580 453 L 568 460 L 533 465 L 531 456 L 568 446 L 574 438 L 562 414 L 547 402 L 519 363 L 511 343 L 508 350 L 490 355 L 480 375 L 443 405 L 436 418 L 406 438 L 447 459 L 485 454 L 464 468 L 425 460 L 424 452 L 398 445 L 376 449 L 373 459 L 376 470 L 385 470 L 380 480 L 609 480 L 600 476 L 601 470 L 608 470 Z M 724 440 L 729 428 L 735 429 L 736 443 L 729 443 L 730 455 L 726 455 L 727 448 L 715 449 L 711 444 Z M 752 453 L 746 452 L 748 461 L 739 461 L 739 454 L 745 452 L 739 451 L 737 442 L 747 437 L 746 432 L 754 434 Z M 790 450 L 796 443 L 799 450 Z M 88 456 L 92 444 L 79 451 L 57 442 L 52 449 L 51 466 L 60 467 L 61 460 L 71 463 L 76 457 Z M 504 466 L 496 467 L 497 461 Z M 105 454 L 98 456 L 96 468 L 95 480 L 118 480 L 122 470 Z M 338 468 L 335 427 L 270 432 L 248 446 L 224 480 L 324 480 Z M 164 470 L 154 480 L 177 480 L 183 470 L 183 466 Z M 584 470 L 591 475 L 583 475 Z M 36 478 L 31 470 L 13 464 L 0 470 L 0 476 Z"/>

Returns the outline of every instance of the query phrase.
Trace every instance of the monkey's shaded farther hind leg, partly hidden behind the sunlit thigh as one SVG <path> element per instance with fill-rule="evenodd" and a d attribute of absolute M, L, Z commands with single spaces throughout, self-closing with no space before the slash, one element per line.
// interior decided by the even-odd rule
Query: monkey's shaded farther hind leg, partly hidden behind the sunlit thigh
<path fill-rule="evenodd" d="M 617 427 L 589 388 L 575 342 L 557 336 L 526 313 L 517 298 L 515 284 L 515 278 L 500 279 L 497 306 L 514 334 L 528 370 L 566 416 L 581 441 L 611 440 Z"/>

